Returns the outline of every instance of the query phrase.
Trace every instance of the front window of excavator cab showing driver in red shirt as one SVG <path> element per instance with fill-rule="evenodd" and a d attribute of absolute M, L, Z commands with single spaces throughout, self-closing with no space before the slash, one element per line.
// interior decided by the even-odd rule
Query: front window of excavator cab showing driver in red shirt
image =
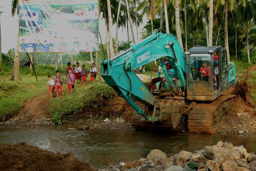
<path fill-rule="evenodd" d="M 190 81 L 209 81 L 210 80 L 210 54 L 191 54 L 189 80 Z"/>

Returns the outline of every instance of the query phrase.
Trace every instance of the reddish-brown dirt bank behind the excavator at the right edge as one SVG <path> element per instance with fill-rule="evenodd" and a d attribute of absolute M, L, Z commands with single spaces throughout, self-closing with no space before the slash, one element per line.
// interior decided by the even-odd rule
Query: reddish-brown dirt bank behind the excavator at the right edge
<path fill-rule="evenodd" d="M 236 85 L 237 94 L 246 105 L 256 107 L 256 66 L 249 67 Z"/>

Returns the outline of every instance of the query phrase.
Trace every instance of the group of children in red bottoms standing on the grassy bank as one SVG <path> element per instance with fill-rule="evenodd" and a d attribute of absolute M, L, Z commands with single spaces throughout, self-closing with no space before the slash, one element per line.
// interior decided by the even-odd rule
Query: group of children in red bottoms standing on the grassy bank
<path fill-rule="evenodd" d="M 90 77 L 90 84 L 95 82 L 96 75 L 97 75 L 97 68 L 95 67 L 95 63 L 92 63 L 92 67 L 89 70 L 91 77 Z M 57 98 L 59 98 L 59 89 L 62 92 L 63 98 L 64 98 L 64 91 L 62 87 L 63 79 L 60 76 L 60 72 L 56 71 L 56 76 L 54 79 L 52 79 L 52 76 L 48 76 L 48 85 L 49 87 L 49 94 L 50 97 L 53 98 L 53 91 L 55 89 L 55 92 L 57 94 Z M 82 68 L 80 67 L 79 62 L 76 62 L 76 66 L 73 65 L 73 68 L 71 68 L 70 62 L 68 62 L 68 66 L 66 67 L 66 83 L 68 85 L 69 93 L 70 95 L 73 94 L 74 86 L 76 86 L 77 81 L 80 81 L 80 85 L 87 85 L 86 79 L 88 76 L 88 71 L 85 68 L 85 65 L 82 65 Z"/>

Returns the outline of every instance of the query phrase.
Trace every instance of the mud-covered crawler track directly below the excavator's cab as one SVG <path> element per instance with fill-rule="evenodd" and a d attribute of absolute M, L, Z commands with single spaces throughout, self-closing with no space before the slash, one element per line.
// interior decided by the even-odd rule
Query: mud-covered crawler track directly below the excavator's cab
<path fill-rule="evenodd" d="M 199 103 L 188 114 L 188 129 L 193 133 L 214 133 L 221 117 L 231 110 L 233 94 L 224 94 L 212 103 Z"/>

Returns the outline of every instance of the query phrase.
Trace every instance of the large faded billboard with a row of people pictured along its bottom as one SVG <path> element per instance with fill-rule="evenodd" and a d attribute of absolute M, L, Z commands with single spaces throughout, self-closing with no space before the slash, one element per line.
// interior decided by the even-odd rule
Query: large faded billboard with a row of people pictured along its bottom
<path fill-rule="evenodd" d="M 21 53 L 98 51 L 98 0 L 19 0 Z"/>

